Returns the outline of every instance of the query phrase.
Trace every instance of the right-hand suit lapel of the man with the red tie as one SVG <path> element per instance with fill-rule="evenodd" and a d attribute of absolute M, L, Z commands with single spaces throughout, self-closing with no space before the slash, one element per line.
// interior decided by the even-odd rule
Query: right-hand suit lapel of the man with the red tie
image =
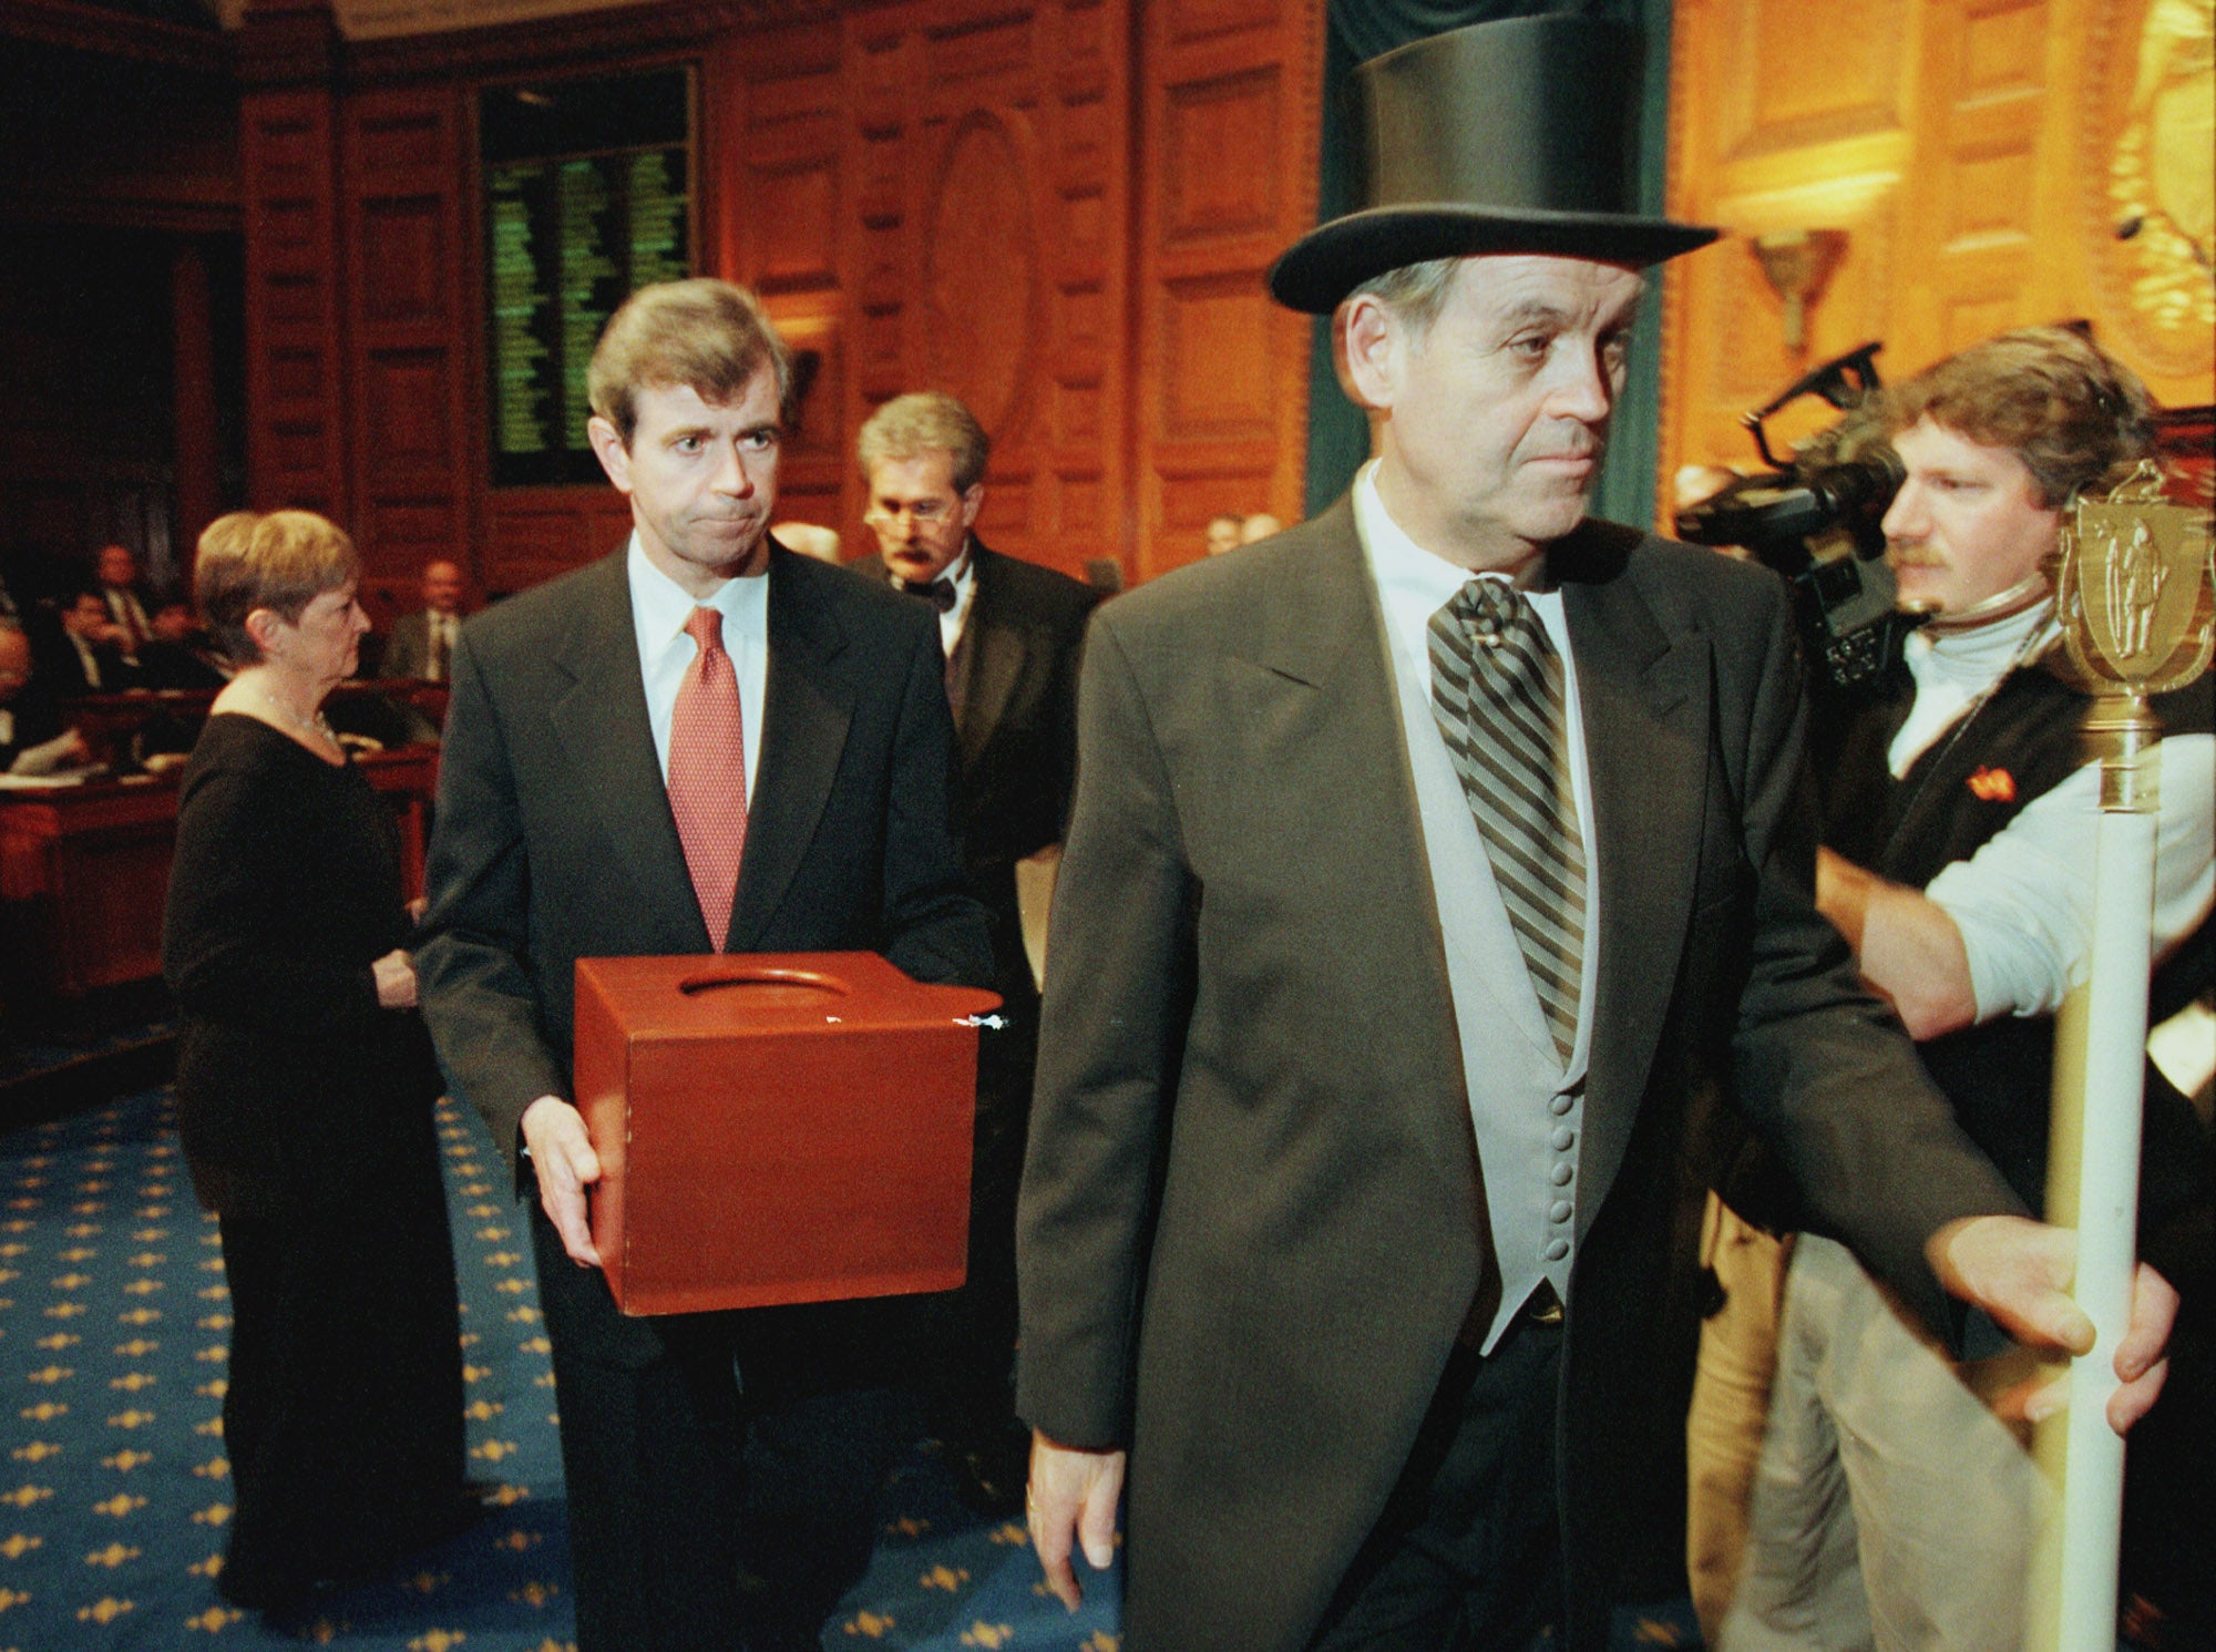
<path fill-rule="evenodd" d="M 853 686 L 833 664 L 847 649 L 847 633 L 829 609 L 804 602 L 793 589 L 793 556 L 782 545 L 769 551 L 762 771 L 753 777 L 753 806 L 747 810 L 747 853 L 738 866 L 727 937 L 731 952 L 756 950 L 800 870 L 853 717 Z"/>

